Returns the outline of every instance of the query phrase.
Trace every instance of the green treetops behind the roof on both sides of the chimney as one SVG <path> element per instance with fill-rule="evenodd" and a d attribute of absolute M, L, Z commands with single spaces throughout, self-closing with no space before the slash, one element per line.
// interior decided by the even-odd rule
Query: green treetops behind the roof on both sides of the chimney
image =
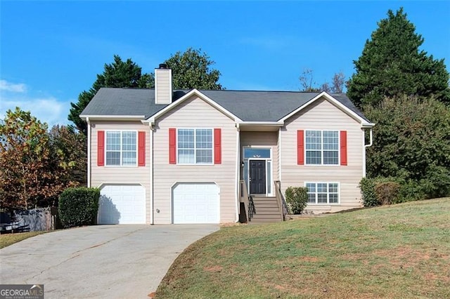
<path fill-rule="evenodd" d="M 188 48 L 184 53 L 176 52 L 164 62 L 172 69 L 172 84 L 176 89 L 222 89 L 218 83 L 220 72 L 212 69 L 214 61 L 201 49 Z M 155 74 L 142 74 L 142 69 L 131 59 L 122 61 L 119 55 L 114 55 L 114 62 L 105 64 L 102 74 L 97 74 L 97 79 L 89 91 L 82 91 L 78 95 L 76 103 L 71 102 L 68 119 L 75 124 L 75 128 L 87 134 L 86 121 L 79 118 L 79 114 L 94 98 L 102 87 L 115 88 L 153 88 L 155 86 Z"/>

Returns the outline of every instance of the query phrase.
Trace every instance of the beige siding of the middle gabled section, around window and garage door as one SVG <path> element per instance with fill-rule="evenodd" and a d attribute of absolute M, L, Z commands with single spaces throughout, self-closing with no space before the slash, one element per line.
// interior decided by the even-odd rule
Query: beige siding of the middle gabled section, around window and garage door
<path fill-rule="evenodd" d="M 220 189 L 220 222 L 235 222 L 237 174 L 234 121 L 193 96 L 157 119 L 155 127 L 155 224 L 172 223 L 172 187 L 176 182 L 215 182 Z M 221 164 L 169 164 L 169 128 L 221 128 Z"/>

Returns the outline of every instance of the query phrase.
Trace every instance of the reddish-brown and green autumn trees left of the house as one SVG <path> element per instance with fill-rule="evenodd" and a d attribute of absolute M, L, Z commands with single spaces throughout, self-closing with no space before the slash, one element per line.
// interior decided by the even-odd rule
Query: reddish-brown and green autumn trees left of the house
<path fill-rule="evenodd" d="M 0 206 L 53 206 L 67 187 L 86 184 L 82 133 L 41 123 L 20 108 L 0 122 Z"/>

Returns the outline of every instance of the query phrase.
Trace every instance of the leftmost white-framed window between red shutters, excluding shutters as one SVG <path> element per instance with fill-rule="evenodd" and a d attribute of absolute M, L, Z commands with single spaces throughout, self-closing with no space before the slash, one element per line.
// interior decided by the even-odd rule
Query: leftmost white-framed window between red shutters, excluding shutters
<path fill-rule="evenodd" d="M 106 132 L 106 165 L 136 166 L 136 131 Z"/>

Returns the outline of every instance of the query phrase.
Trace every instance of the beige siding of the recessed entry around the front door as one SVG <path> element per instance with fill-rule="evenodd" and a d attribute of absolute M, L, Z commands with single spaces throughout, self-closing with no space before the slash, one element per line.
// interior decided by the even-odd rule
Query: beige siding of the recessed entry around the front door
<path fill-rule="evenodd" d="M 244 157 L 243 147 L 271 147 L 272 152 L 272 181 L 271 189 L 274 190 L 274 180 L 279 178 L 278 161 L 278 131 L 277 132 L 240 132 L 240 157 Z"/>

